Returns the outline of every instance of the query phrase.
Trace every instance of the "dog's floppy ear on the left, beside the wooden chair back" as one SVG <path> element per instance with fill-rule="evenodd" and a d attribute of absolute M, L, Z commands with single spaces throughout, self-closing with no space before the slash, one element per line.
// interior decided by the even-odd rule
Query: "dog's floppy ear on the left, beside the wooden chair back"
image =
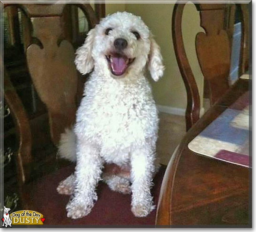
<path fill-rule="evenodd" d="M 92 71 L 94 60 L 91 55 L 93 40 L 95 38 L 95 29 L 91 29 L 85 39 L 84 44 L 76 50 L 75 64 L 80 73 L 86 74 Z"/>

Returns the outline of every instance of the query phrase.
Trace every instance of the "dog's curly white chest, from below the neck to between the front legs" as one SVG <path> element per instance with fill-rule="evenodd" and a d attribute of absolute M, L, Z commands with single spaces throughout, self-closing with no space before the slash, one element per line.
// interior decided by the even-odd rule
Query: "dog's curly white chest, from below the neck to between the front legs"
<path fill-rule="evenodd" d="M 157 137 L 158 113 L 149 84 L 89 82 L 77 112 L 76 134 L 100 147 L 106 162 L 127 164 L 133 149 Z"/>

